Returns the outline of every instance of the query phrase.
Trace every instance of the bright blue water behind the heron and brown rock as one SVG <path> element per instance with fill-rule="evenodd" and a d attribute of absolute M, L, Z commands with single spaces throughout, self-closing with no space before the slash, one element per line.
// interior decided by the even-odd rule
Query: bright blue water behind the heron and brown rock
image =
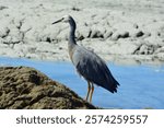
<path fill-rule="evenodd" d="M 49 78 L 68 85 L 85 97 L 86 82 L 79 77 L 70 62 L 37 61 L 0 57 L 0 66 L 27 66 L 36 68 Z M 92 103 L 105 108 L 164 108 L 164 66 L 118 66 L 108 63 L 120 83 L 118 93 L 95 86 Z"/>

